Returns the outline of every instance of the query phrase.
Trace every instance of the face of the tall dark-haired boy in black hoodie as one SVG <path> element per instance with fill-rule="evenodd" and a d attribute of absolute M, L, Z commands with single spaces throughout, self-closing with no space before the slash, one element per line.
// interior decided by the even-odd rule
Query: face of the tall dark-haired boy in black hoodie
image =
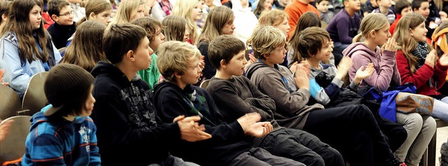
<path fill-rule="evenodd" d="M 149 68 L 151 64 L 151 54 L 154 51 L 149 47 L 149 39 L 145 36 L 140 40 L 139 47 L 133 52 L 135 67 L 139 70 Z"/>

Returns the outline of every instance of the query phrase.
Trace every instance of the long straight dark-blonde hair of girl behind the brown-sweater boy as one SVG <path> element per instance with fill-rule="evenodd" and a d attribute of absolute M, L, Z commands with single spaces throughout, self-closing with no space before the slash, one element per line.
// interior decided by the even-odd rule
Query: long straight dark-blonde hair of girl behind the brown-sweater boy
<path fill-rule="evenodd" d="M 227 6 L 218 6 L 212 9 L 205 20 L 204 29 L 199 36 L 199 42 L 210 42 L 223 34 L 223 27 L 230 21 L 235 20 L 233 11 Z"/>

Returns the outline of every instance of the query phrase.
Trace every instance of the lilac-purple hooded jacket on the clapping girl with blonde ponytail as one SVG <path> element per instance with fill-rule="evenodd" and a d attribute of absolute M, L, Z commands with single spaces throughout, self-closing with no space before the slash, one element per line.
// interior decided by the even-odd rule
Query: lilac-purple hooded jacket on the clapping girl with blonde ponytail
<path fill-rule="evenodd" d="M 374 73 L 370 77 L 365 78 L 360 86 L 368 84 L 381 89 L 381 91 L 386 91 L 392 80 L 393 84 L 400 85 L 400 73 L 398 73 L 397 63 L 395 61 L 395 52 L 384 50 L 381 54 L 378 46 L 375 52 L 372 52 L 367 45 L 358 42 L 349 45 L 342 54 L 351 57 L 353 61 L 353 66 L 349 69 L 350 82 L 361 66 L 367 66 L 368 63 L 373 63 L 375 68 Z"/>

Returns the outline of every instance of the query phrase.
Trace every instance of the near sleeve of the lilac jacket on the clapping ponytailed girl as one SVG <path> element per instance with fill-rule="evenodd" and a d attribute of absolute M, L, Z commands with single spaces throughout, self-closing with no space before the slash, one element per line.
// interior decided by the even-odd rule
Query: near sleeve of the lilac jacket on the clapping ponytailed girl
<path fill-rule="evenodd" d="M 394 54 L 395 52 L 384 50 L 384 54 L 379 62 L 379 70 L 375 70 L 370 77 L 365 78 L 363 81 L 370 86 L 381 89 L 381 91 L 386 91 L 392 80 L 393 65 L 395 63 Z M 367 66 L 368 63 L 371 63 L 372 61 L 367 56 L 369 55 L 358 54 L 352 57 L 352 59 L 356 59 L 353 61 L 353 67 L 358 70 L 361 66 Z"/>

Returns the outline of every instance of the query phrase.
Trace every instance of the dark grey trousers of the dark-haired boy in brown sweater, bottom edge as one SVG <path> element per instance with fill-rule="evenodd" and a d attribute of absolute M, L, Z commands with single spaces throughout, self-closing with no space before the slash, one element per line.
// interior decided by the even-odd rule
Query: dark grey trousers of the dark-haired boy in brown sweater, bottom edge
<path fill-rule="evenodd" d="M 336 149 L 303 130 L 275 130 L 265 136 L 259 147 L 275 156 L 290 158 L 307 166 L 345 165 L 344 158 Z"/>

